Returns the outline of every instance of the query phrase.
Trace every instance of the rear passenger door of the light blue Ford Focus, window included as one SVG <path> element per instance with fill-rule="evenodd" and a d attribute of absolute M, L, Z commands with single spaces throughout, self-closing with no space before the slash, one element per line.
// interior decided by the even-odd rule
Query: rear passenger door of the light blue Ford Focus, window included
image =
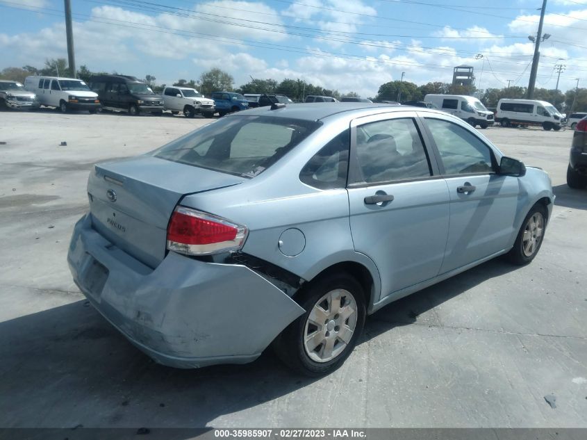
<path fill-rule="evenodd" d="M 443 261 L 449 193 L 424 143 L 415 112 L 352 122 L 352 237 L 379 268 L 382 298 L 435 277 Z"/>

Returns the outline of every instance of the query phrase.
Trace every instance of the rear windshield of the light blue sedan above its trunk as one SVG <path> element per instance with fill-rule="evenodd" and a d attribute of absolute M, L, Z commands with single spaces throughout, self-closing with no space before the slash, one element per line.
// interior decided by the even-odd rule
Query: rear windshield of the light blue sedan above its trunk
<path fill-rule="evenodd" d="M 163 145 L 155 157 L 255 177 L 320 127 L 316 121 L 270 116 L 226 117 Z"/>

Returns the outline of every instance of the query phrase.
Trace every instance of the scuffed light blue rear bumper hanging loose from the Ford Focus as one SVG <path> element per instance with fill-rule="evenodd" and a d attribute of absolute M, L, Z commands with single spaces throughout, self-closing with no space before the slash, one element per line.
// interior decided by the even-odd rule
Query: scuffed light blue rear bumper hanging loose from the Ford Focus
<path fill-rule="evenodd" d="M 304 309 L 240 265 L 205 263 L 170 252 L 144 266 L 92 229 L 74 228 L 67 255 L 92 305 L 155 361 L 176 368 L 253 361 Z"/>

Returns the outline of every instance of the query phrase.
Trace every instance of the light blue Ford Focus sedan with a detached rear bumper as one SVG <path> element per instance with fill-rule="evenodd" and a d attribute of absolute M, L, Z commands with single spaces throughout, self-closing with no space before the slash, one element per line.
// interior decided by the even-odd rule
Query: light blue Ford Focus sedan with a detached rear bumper
<path fill-rule="evenodd" d="M 87 188 L 69 267 L 129 341 L 181 368 L 273 342 L 308 375 L 386 304 L 495 256 L 532 261 L 554 201 L 546 172 L 457 117 L 362 103 L 233 113 L 95 165 Z"/>

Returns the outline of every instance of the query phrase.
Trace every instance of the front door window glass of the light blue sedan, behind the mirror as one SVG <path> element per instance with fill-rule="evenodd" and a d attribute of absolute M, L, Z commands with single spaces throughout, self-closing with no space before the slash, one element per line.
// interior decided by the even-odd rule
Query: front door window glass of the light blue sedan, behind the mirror
<path fill-rule="evenodd" d="M 445 174 L 493 172 L 490 148 L 469 130 L 445 120 L 427 118 Z"/>

